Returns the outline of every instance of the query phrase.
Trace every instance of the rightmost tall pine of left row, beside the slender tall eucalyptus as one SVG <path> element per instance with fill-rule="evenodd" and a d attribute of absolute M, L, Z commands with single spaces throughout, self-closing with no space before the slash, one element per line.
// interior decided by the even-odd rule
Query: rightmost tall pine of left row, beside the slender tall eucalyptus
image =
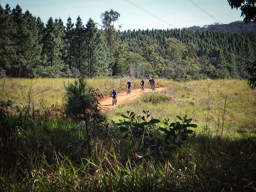
<path fill-rule="evenodd" d="M 111 61 L 108 47 L 92 18 L 86 23 L 85 36 L 87 76 L 90 78 L 93 76 L 109 76 L 111 74 Z"/>

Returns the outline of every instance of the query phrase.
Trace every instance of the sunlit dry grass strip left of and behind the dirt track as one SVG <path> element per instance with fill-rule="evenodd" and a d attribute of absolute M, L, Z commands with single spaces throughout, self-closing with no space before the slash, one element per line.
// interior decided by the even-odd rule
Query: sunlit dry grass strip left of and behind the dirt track
<path fill-rule="evenodd" d="M 22 107 L 26 104 L 29 98 L 33 101 L 35 106 L 40 106 L 43 103 L 47 106 L 58 103 L 62 107 L 62 98 L 64 95 L 64 84 L 72 82 L 72 78 L 38 78 L 38 79 L 24 79 L 24 78 L 7 78 L 0 79 L 0 99 L 12 100 L 13 105 Z M 117 92 L 126 92 L 125 85 L 127 80 L 133 83 L 134 89 L 140 88 L 141 79 L 127 79 L 127 78 L 100 78 L 87 79 L 88 84 L 93 88 L 99 88 L 102 98 L 110 95 L 113 89 Z M 147 80 L 146 80 L 147 81 Z M 165 80 L 156 80 L 157 87 L 166 86 L 168 84 Z"/>

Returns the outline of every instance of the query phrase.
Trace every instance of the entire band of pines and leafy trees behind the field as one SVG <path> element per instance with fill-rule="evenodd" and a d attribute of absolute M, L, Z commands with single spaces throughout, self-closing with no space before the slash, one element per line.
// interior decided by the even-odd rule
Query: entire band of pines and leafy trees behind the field
<path fill-rule="evenodd" d="M 247 79 L 255 60 L 255 34 L 211 30 L 116 30 L 120 14 L 69 17 L 66 26 L 52 17 L 44 24 L 19 5 L 0 6 L 2 77 L 158 77 L 174 81 Z M 115 18 L 115 20 L 109 20 Z M 111 25 L 110 25 L 111 24 Z"/>

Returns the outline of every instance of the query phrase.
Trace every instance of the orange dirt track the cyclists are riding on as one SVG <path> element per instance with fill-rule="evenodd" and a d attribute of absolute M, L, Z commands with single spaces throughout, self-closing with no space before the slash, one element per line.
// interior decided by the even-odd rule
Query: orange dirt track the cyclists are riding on
<path fill-rule="evenodd" d="M 156 88 L 156 91 L 158 92 L 162 92 L 164 90 L 164 88 Z M 131 95 L 127 95 L 126 92 L 124 93 L 117 93 L 117 104 L 116 105 L 112 105 L 112 97 L 108 97 L 107 99 L 104 100 L 100 100 L 100 107 L 103 110 L 111 110 L 113 108 L 116 108 L 118 105 L 123 104 L 125 101 L 129 100 L 135 100 L 137 97 L 139 97 L 141 94 L 146 93 L 146 92 L 152 92 L 152 90 L 149 89 L 145 89 L 145 92 L 141 92 L 141 89 L 134 89 L 132 90 Z M 109 93 L 110 95 L 111 93 Z"/>

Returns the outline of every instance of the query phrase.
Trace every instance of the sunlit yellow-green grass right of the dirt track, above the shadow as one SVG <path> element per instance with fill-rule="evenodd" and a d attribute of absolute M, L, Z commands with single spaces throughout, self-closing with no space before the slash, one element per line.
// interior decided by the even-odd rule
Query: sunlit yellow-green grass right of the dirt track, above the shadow
<path fill-rule="evenodd" d="M 120 106 L 114 113 L 118 116 L 130 110 L 143 115 L 142 110 L 150 110 L 154 118 L 172 121 L 177 120 L 177 115 L 188 115 L 198 125 L 198 132 L 207 128 L 214 133 L 222 129 L 222 124 L 225 134 L 253 135 L 255 132 L 256 93 L 247 86 L 246 80 L 171 82 L 163 93 L 166 95 L 163 102 L 145 102 L 144 96 L 140 96 L 136 101 Z M 157 93 L 154 97 L 159 99 Z"/>

